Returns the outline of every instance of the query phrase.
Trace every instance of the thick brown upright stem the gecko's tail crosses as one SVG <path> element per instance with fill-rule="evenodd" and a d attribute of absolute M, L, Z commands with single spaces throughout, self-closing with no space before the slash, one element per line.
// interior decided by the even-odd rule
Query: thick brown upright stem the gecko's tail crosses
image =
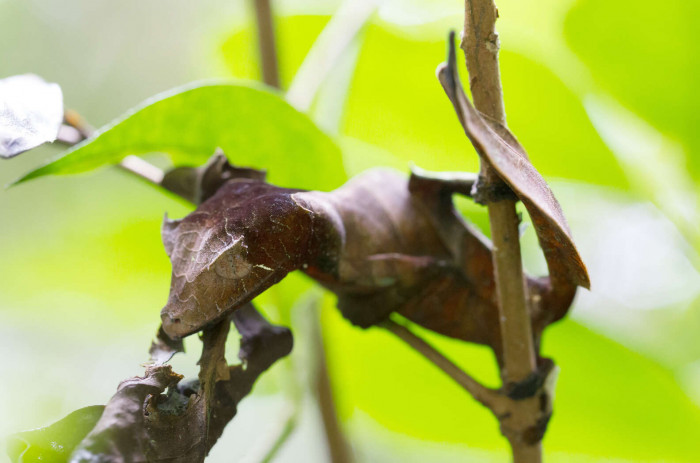
<path fill-rule="evenodd" d="M 493 0 L 466 0 L 462 48 L 467 58 L 469 86 L 474 106 L 505 125 L 503 91 L 498 67 L 498 10 Z M 502 183 L 482 161 L 481 179 L 492 186 Z M 503 199 L 488 204 L 498 308 L 503 338 L 505 384 L 524 380 L 536 370 L 535 348 L 527 307 L 525 280 L 518 236 L 516 201 Z M 541 444 L 526 445 L 517 433 L 508 432 L 513 459 L 540 462 Z"/>

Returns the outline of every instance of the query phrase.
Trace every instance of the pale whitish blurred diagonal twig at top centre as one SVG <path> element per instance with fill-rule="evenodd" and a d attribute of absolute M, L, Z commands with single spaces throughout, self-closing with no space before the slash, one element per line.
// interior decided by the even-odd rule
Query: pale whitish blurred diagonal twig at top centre
<path fill-rule="evenodd" d="M 299 67 L 287 101 L 307 111 L 319 87 L 377 7 L 377 0 L 346 0 L 328 21 Z"/>

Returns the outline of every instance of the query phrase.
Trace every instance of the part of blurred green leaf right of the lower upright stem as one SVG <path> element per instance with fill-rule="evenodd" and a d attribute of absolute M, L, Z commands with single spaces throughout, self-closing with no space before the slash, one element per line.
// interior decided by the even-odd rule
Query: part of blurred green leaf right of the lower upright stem
<path fill-rule="evenodd" d="M 633 461 L 700 454 L 700 409 L 668 368 L 571 320 L 545 333 L 543 355 L 561 367 L 551 450 Z"/>

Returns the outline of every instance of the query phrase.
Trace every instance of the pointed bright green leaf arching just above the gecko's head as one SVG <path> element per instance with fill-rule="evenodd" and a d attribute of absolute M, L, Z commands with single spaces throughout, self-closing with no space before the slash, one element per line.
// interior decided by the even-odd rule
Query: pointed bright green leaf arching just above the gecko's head
<path fill-rule="evenodd" d="M 85 172 L 130 154 L 165 152 L 176 165 L 198 165 L 217 147 L 233 164 L 269 168 L 270 182 L 281 186 L 330 189 L 345 178 L 339 148 L 279 95 L 207 83 L 147 100 L 16 183 Z"/>

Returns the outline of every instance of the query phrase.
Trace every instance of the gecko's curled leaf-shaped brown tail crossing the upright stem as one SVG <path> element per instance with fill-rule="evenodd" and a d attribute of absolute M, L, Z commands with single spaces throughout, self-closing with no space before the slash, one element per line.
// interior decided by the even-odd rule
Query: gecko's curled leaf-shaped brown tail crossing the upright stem
<path fill-rule="evenodd" d="M 506 127 L 479 113 L 464 94 L 457 75 L 454 33 L 450 34 L 448 61 L 438 68 L 437 74 L 482 162 L 493 167 L 532 217 L 554 286 L 559 290 L 571 285 L 589 288 L 586 266 L 547 182 L 530 163 L 515 136 Z M 475 189 L 478 192 L 478 185 Z"/>

